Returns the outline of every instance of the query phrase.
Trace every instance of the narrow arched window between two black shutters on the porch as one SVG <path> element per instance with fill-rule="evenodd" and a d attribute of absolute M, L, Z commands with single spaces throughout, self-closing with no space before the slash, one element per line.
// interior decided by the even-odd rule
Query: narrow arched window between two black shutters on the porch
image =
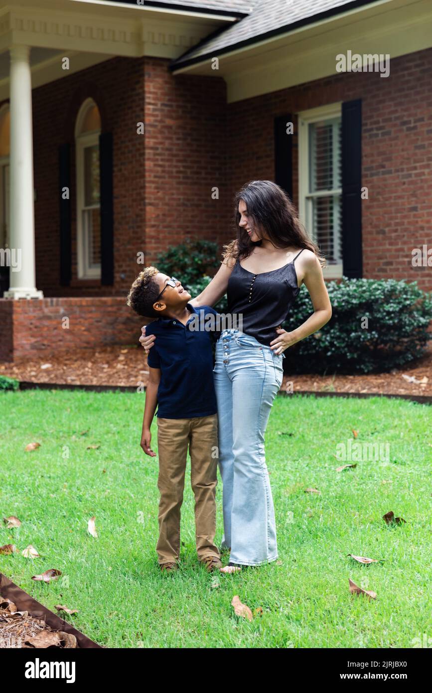
<path fill-rule="evenodd" d="M 100 113 L 91 98 L 75 124 L 78 278 L 100 278 Z"/>

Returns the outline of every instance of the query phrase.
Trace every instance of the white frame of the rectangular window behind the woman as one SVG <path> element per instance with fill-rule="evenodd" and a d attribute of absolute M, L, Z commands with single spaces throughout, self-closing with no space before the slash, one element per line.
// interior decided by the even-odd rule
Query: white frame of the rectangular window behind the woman
<path fill-rule="evenodd" d="M 342 102 L 330 103 L 318 108 L 310 108 L 307 111 L 300 111 L 298 116 L 298 214 L 300 221 L 305 226 L 309 236 L 310 229 L 307 229 L 306 198 L 309 193 L 309 123 L 338 118 L 342 114 Z M 332 190 L 330 193 L 342 195 L 342 188 Z M 328 191 L 326 191 L 328 194 Z M 319 193 L 317 193 L 319 195 Z M 343 264 L 329 263 L 323 270 L 325 279 L 341 279 L 343 274 Z"/>

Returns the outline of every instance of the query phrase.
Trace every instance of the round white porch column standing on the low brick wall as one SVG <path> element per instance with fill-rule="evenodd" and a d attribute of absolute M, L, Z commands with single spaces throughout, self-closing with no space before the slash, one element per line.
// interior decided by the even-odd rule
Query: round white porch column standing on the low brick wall
<path fill-rule="evenodd" d="M 5 298 L 43 298 L 35 286 L 35 208 L 30 47 L 10 47 L 10 288 Z M 14 266 L 15 265 L 15 266 Z"/>

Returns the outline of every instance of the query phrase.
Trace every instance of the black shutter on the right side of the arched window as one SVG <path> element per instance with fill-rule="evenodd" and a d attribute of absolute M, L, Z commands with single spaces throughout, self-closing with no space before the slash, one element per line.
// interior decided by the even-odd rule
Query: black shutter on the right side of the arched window
<path fill-rule="evenodd" d="M 99 135 L 100 160 L 100 281 L 114 283 L 113 143 L 112 133 Z"/>

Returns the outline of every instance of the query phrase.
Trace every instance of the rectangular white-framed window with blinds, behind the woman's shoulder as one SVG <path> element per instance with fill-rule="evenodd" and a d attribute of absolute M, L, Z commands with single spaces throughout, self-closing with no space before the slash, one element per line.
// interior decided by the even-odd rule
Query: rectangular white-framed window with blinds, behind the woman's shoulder
<path fill-rule="evenodd" d="M 298 114 L 299 213 L 327 260 L 324 276 L 342 277 L 341 104 Z"/>

